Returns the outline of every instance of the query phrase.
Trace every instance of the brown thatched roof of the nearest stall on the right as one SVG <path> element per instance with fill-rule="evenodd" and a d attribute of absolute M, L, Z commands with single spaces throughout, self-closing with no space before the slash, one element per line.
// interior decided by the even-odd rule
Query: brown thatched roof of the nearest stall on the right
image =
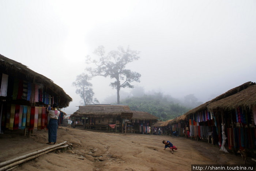
<path fill-rule="evenodd" d="M 238 106 L 251 108 L 256 105 L 256 85 L 233 94 L 232 96 L 210 103 L 208 109 L 236 109 Z"/>

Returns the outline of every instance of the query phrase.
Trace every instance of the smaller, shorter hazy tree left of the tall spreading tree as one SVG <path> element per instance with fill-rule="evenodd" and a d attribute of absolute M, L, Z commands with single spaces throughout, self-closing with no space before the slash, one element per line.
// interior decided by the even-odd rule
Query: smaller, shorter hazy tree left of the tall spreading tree
<path fill-rule="evenodd" d="M 87 74 L 80 74 L 76 77 L 76 81 L 73 85 L 76 87 L 76 94 L 82 98 L 83 105 L 99 103 L 97 98 L 93 98 L 94 92 L 91 86 L 93 86 L 89 80 L 91 78 Z"/>

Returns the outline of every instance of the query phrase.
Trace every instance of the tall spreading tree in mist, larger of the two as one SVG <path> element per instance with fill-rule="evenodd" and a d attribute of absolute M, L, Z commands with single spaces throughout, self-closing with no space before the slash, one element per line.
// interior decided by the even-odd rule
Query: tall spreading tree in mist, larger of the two
<path fill-rule="evenodd" d="M 97 75 L 103 77 L 114 78 L 115 81 L 110 83 L 113 89 L 117 90 L 117 104 L 120 104 L 120 89 L 133 88 L 131 82 L 140 82 L 140 74 L 131 70 L 125 69 L 130 62 L 139 59 L 139 52 L 133 51 L 129 47 L 125 50 L 123 47 L 118 47 L 118 50 L 110 51 L 105 55 L 103 46 L 95 49 L 94 54 L 99 56 L 99 60 L 91 60 L 90 56 L 86 57 L 87 63 L 94 63 L 96 68 L 87 67 L 86 70 L 95 77 Z"/>

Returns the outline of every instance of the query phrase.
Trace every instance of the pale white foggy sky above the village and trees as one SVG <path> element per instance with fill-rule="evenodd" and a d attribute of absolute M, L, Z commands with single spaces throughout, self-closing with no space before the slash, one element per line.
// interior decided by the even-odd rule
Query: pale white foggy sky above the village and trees
<path fill-rule="evenodd" d="M 0 54 L 63 88 L 67 114 L 80 100 L 72 82 L 100 45 L 140 51 L 127 67 L 142 75 L 136 86 L 205 102 L 256 81 L 255 9 L 255 0 L 1 0 Z M 116 93 L 109 82 L 92 80 L 100 102 Z"/>

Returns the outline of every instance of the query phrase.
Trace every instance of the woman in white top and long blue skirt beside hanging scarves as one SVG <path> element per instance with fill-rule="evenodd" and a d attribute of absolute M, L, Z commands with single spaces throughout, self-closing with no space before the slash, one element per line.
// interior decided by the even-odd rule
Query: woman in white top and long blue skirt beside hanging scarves
<path fill-rule="evenodd" d="M 55 144 L 57 140 L 57 128 L 58 128 L 58 117 L 60 115 L 60 111 L 57 110 L 57 104 L 54 103 L 52 105 L 53 110 L 49 110 L 46 108 L 46 112 L 50 116 L 50 120 L 48 123 L 48 143 L 46 144 Z"/>

